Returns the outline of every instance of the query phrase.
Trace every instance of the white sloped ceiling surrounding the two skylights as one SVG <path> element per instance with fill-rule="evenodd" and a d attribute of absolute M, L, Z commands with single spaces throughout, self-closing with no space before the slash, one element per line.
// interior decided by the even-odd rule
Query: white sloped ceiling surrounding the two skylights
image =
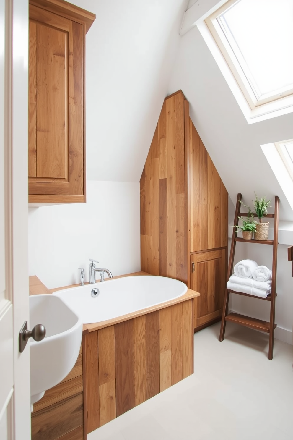
<path fill-rule="evenodd" d="M 260 145 L 292 138 L 293 113 L 249 125 L 196 26 L 181 37 L 168 94 L 178 88 L 232 202 L 238 192 L 249 205 L 254 191 L 260 197 L 279 195 L 280 219 L 292 221 L 292 209 Z"/>

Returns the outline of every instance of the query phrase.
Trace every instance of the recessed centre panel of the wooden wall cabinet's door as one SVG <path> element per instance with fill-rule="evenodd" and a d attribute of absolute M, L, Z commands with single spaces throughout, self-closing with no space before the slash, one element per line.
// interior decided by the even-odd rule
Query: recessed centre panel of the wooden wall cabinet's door
<path fill-rule="evenodd" d="M 67 179 L 68 33 L 37 24 L 36 35 L 36 175 Z"/>

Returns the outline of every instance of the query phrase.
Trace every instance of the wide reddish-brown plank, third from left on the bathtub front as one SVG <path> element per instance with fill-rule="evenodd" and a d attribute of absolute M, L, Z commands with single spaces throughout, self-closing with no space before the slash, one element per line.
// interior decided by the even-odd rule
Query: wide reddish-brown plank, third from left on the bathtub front
<path fill-rule="evenodd" d="M 133 319 L 115 324 L 116 416 L 135 406 Z"/>

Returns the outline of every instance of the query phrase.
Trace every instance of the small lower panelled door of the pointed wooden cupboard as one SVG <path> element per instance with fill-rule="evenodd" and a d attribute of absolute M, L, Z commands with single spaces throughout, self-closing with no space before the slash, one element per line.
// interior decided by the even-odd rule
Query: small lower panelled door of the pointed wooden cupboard
<path fill-rule="evenodd" d="M 226 282 L 226 249 L 191 255 L 191 286 L 195 298 L 195 328 L 221 317 Z M 194 267 L 194 271 L 193 271 Z"/>

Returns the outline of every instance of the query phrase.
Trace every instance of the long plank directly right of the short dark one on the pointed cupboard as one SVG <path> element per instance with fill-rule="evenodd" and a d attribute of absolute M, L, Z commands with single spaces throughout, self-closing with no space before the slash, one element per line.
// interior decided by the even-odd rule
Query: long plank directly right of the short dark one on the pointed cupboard
<path fill-rule="evenodd" d="M 166 100 L 167 136 L 167 275 L 176 278 L 176 107 L 175 97 Z"/>

